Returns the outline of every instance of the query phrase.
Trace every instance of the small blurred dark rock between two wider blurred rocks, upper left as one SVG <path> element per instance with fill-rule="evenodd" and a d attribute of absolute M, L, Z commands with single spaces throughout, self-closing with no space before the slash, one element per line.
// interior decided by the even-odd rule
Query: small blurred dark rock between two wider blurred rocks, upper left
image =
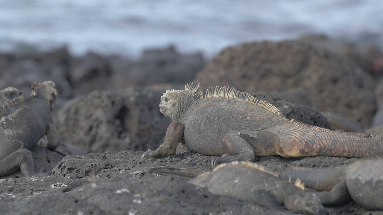
<path fill-rule="evenodd" d="M 110 82 L 111 69 L 109 61 L 94 52 L 73 59 L 70 70 L 70 81 L 75 95 L 83 95 L 93 90 L 113 88 Z"/>

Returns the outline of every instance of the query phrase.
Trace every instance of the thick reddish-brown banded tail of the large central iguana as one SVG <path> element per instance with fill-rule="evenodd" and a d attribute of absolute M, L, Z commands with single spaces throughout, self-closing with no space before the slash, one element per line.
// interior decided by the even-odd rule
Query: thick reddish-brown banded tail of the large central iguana
<path fill-rule="evenodd" d="M 275 129 L 278 145 L 285 157 L 331 156 L 365 158 L 383 155 L 383 136 L 342 132 L 307 125 L 294 120 Z"/>

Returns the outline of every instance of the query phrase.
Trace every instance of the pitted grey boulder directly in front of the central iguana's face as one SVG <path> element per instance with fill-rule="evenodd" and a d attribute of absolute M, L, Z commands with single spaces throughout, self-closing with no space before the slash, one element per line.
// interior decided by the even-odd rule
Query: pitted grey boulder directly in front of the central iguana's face
<path fill-rule="evenodd" d="M 93 91 L 70 100 L 55 119 L 62 140 L 86 152 L 147 150 L 162 143 L 171 120 L 158 108 L 163 91 Z"/>

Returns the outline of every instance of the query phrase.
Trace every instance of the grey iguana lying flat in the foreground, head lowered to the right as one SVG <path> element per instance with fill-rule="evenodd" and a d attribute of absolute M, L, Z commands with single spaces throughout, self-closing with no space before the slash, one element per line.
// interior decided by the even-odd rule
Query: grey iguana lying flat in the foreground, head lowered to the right
<path fill-rule="evenodd" d="M 190 173 L 183 174 L 180 169 L 169 168 L 153 168 L 148 173 L 194 177 Z M 213 171 L 200 174 L 188 182 L 214 194 L 248 200 L 270 209 L 283 210 L 284 204 L 288 210 L 297 213 L 327 213 L 321 200 L 313 192 L 303 191 L 304 185 L 299 180 L 293 185 L 280 178 L 277 173 L 252 162 L 223 163 Z"/>

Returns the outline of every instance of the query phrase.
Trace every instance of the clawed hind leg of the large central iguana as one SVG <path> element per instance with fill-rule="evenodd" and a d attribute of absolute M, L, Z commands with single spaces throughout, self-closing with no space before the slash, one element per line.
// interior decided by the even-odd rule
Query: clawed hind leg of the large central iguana
<path fill-rule="evenodd" d="M 254 148 L 240 136 L 240 131 L 226 132 L 223 138 L 223 143 L 228 151 L 221 157 L 213 158 L 211 164 L 215 168 L 221 163 L 230 161 L 254 161 Z"/>

